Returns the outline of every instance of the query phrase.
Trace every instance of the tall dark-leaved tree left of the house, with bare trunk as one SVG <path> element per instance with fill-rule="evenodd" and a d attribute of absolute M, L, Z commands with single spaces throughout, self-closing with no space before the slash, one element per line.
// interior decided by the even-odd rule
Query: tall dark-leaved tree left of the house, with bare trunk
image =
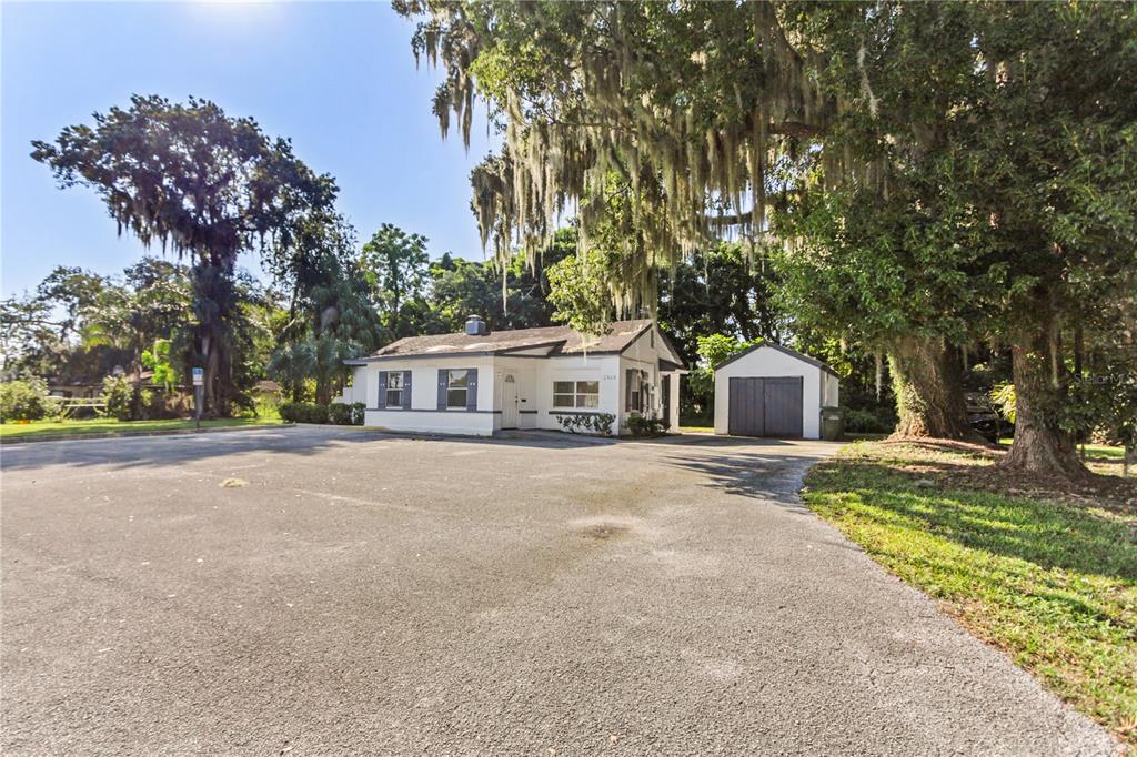
<path fill-rule="evenodd" d="M 92 125 L 68 126 L 33 147 L 61 188 L 93 189 L 119 233 L 190 259 L 206 405 L 227 414 L 236 397 L 238 256 L 292 247 L 300 219 L 331 207 L 334 181 L 251 118 L 192 98 L 181 105 L 134 95 L 128 108 L 97 113 Z"/>

